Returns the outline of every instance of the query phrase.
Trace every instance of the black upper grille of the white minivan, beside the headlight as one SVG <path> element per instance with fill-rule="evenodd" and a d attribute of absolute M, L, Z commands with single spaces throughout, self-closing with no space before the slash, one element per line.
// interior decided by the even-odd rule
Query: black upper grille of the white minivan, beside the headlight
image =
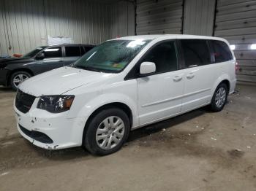
<path fill-rule="evenodd" d="M 23 112 L 24 114 L 26 114 L 26 112 L 29 112 L 29 109 L 34 103 L 35 98 L 36 97 L 34 97 L 33 95 L 29 95 L 27 93 L 23 93 L 22 91 L 18 90 L 18 93 L 16 95 L 16 100 L 15 100 L 15 106 L 20 112 Z"/>

